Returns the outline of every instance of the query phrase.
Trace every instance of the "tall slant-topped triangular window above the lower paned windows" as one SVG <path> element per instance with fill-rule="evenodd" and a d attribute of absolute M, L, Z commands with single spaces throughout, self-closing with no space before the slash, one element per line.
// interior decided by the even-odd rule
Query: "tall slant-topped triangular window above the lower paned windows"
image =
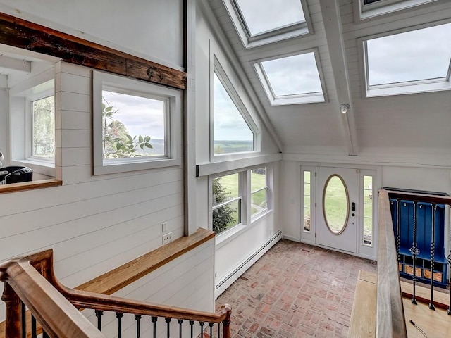
<path fill-rule="evenodd" d="M 255 132 L 247 111 L 235 95 L 230 95 L 219 75 L 213 75 L 214 156 L 255 151 Z"/>

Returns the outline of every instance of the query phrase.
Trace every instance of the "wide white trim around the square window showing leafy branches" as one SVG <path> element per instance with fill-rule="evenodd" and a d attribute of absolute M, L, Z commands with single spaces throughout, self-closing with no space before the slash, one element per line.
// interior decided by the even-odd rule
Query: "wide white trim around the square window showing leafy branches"
<path fill-rule="evenodd" d="M 123 173 L 135 170 L 164 168 L 180 165 L 180 128 L 181 128 L 181 92 L 177 89 L 162 87 L 149 82 L 121 77 L 109 73 L 93 72 L 92 104 L 93 104 L 93 153 L 94 175 Z M 102 90 L 118 90 L 124 94 L 136 94 L 144 97 L 158 97 L 167 102 L 165 147 L 167 157 L 156 156 L 146 158 L 123 158 L 119 161 L 104 163 L 102 154 Z"/>

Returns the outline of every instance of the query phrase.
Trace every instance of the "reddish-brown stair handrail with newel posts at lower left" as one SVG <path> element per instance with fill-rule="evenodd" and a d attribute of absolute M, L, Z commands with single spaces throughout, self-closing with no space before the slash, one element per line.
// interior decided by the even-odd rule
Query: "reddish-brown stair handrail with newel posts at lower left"
<path fill-rule="evenodd" d="M 54 275 L 51 249 L 0 264 L 0 280 L 6 282 L 2 298 L 6 303 L 6 337 L 21 337 L 20 298 L 50 337 L 104 337 L 77 309 L 92 308 L 223 323 L 223 337 L 230 338 L 231 308 L 228 305 L 218 313 L 209 313 L 70 289 Z"/>

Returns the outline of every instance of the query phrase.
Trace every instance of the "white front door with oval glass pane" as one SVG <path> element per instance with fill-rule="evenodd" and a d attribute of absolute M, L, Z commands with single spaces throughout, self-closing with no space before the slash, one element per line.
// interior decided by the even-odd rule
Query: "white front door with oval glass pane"
<path fill-rule="evenodd" d="M 316 167 L 316 244 L 357 253 L 357 170 Z"/>

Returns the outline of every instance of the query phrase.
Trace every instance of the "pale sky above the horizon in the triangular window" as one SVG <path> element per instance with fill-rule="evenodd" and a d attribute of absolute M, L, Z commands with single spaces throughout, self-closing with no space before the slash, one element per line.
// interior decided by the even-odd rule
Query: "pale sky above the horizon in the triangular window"
<path fill-rule="evenodd" d="M 214 73 L 214 139 L 252 141 L 254 134 L 249 129 L 240 111 Z"/>

